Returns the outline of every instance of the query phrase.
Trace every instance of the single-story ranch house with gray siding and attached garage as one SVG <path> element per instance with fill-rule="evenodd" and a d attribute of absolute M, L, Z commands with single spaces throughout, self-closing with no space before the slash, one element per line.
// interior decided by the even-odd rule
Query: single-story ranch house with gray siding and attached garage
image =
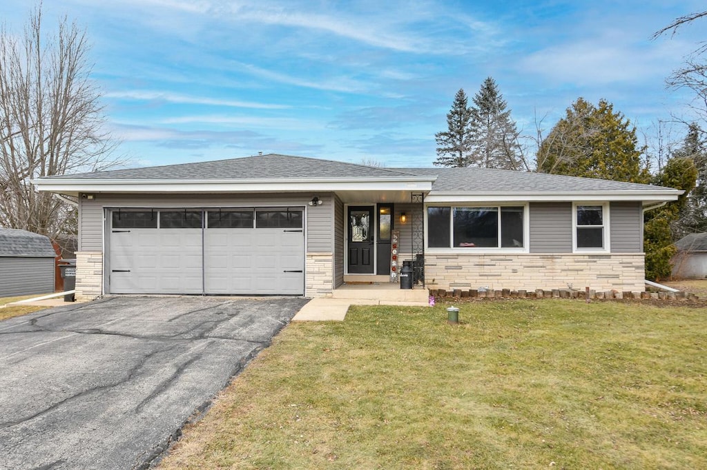
<path fill-rule="evenodd" d="M 33 183 L 78 197 L 76 295 L 84 299 L 326 296 L 344 282 L 388 282 L 404 260 L 423 265 L 435 289 L 643 291 L 643 212 L 681 194 L 572 176 L 286 155 Z"/>

